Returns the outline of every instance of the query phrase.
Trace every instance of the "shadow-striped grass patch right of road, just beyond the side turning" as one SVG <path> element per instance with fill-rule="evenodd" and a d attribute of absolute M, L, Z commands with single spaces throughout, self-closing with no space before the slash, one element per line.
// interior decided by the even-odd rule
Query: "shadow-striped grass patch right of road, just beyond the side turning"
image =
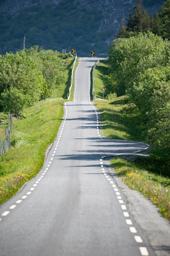
<path fill-rule="evenodd" d="M 144 140 L 139 110 L 135 105 L 126 104 L 126 97 L 119 97 L 114 102 L 98 99 L 95 104 L 104 122 L 102 131 L 105 136 L 111 139 Z"/>

